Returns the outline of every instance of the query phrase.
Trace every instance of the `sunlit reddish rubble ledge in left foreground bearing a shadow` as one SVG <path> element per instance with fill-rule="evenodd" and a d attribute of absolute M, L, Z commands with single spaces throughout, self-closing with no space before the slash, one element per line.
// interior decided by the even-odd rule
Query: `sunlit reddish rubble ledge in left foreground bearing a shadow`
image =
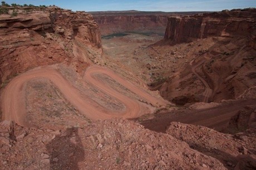
<path fill-rule="evenodd" d="M 4 169 L 225 169 L 174 137 L 114 119 L 62 131 L 0 123 Z"/>

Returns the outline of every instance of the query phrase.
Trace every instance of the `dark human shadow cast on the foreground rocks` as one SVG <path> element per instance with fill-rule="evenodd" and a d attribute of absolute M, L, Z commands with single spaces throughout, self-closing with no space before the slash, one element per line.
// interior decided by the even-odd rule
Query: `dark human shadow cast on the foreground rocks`
<path fill-rule="evenodd" d="M 78 162 L 85 158 L 85 151 L 78 136 L 78 128 L 68 128 L 47 144 L 50 169 L 79 169 Z"/>

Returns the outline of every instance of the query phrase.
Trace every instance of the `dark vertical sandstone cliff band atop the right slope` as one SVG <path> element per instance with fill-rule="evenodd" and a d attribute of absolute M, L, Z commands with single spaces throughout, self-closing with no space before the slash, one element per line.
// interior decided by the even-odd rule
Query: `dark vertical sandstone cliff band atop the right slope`
<path fill-rule="evenodd" d="M 255 27 L 256 9 L 169 17 L 165 39 L 173 43 L 213 36 L 230 37 L 250 34 Z"/>

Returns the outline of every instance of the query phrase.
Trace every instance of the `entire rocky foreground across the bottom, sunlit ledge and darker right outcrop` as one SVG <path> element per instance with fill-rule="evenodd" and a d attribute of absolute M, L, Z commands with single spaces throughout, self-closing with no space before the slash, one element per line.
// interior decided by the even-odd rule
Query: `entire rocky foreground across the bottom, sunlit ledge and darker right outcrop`
<path fill-rule="evenodd" d="M 167 134 L 124 119 L 83 127 L 0 124 L 4 169 L 253 169 L 255 129 L 234 136 L 173 122 Z M 197 150 L 197 151 L 196 151 Z"/>

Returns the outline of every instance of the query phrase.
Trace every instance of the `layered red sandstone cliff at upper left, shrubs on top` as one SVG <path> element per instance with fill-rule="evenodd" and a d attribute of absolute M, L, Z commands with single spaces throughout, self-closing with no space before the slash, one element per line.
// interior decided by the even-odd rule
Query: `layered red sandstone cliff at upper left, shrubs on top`
<path fill-rule="evenodd" d="M 82 71 L 93 59 L 90 53 L 101 54 L 99 27 L 90 14 L 17 10 L 17 17 L 0 16 L 0 83 L 27 69 L 60 62 Z"/>

